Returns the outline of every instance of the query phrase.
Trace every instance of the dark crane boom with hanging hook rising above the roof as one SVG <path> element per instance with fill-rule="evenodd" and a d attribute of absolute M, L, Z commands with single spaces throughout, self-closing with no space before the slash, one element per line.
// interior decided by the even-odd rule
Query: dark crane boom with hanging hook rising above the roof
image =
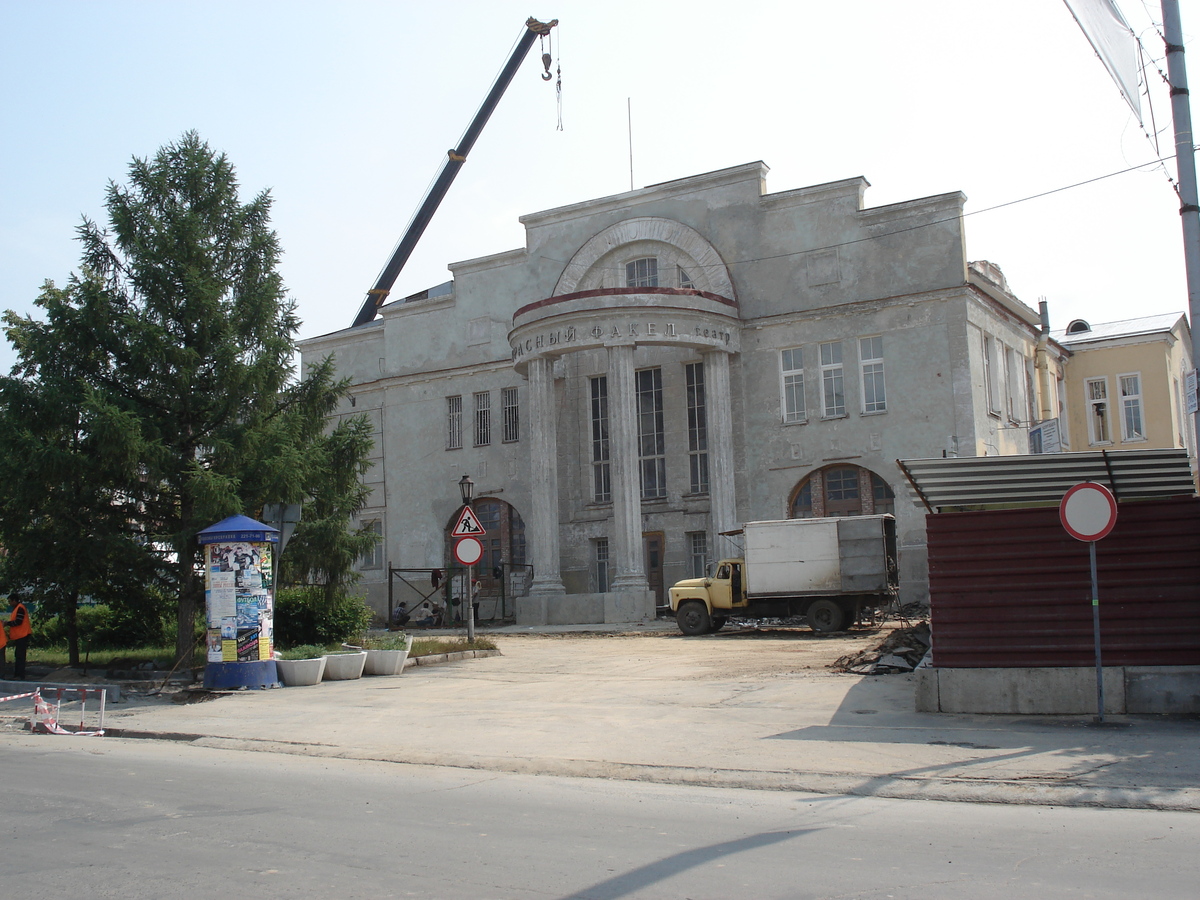
<path fill-rule="evenodd" d="M 463 132 L 462 139 L 458 142 L 458 146 L 446 154 L 446 160 L 442 164 L 442 170 L 430 186 L 430 190 L 425 194 L 425 199 L 421 200 L 421 205 L 416 209 L 416 212 L 413 214 L 413 218 L 409 221 L 408 228 L 404 230 L 404 235 L 396 245 L 396 250 L 392 252 L 391 259 L 388 260 L 388 265 L 385 265 L 383 271 L 379 272 L 379 277 L 376 280 L 374 287 L 367 292 L 367 298 L 362 302 L 362 308 L 359 310 L 359 314 L 354 318 L 354 324 L 350 325 L 350 328 L 365 325 L 374 319 L 379 307 L 383 306 L 388 295 L 391 293 L 391 288 L 396 283 L 396 277 L 400 275 L 400 270 L 404 268 L 404 263 L 407 263 L 408 258 L 412 256 L 414 247 L 416 247 L 416 242 L 425 233 L 426 226 L 428 226 L 430 220 L 433 218 L 433 214 L 442 204 L 442 199 L 446 196 L 446 191 L 450 190 L 450 185 L 454 184 L 454 180 L 458 174 L 458 169 L 461 169 L 462 164 L 467 161 L 467 154 L 470 152 L 470 149 L 475 145 L 475 140 L 479 139 L 480 132 L 482 132 L 484 126 L 487 125 L 487 120 L 491 118 L 496 106 L 500 102 L 500 97 L 504 96 L 504 91 L 508 89 L 509 83 L 516 74 L 517 68 L 520 68 L 521 64 L 524 61 L 526 54 L 529 52 L 533 42 L 539 37 L 548 35 L 550 30 L 557 24 L 558 19 L 538 22 L 536 19 L 530 18 L 526 22 L 524 34 L 522 34 L 521 38 L 517 41 L 517 46 L 509 56 L 509 61 L 496 77 L 496 83 L 492 85 L 492 90 L 488 91 L 487 97 L 484 100 L 484 104 L 479 108 L 479 112 L 475 113 L 475 118 L 470 120 L 470 125 L 467 126 L 467 131 Z M 548 73 L 548 54 L 544 55 L 542 61 Z M 548 74 L 542 76 L 542 78 L 547 77 Z"/>

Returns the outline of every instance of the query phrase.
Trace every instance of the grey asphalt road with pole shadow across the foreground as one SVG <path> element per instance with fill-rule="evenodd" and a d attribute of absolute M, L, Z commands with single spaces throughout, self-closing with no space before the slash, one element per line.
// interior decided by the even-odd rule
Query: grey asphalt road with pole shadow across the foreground
<path fill-rule="evenodd" d="M 0 743 L 11 898 L 1195 898 L 1200 816 Z"/>

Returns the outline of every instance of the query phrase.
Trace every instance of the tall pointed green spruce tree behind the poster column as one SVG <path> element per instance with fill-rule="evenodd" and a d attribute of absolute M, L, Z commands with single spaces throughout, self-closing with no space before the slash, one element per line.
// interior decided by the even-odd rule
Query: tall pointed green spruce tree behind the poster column
<path fill-rule="evenodd" d="M 73 534 L 108 534 L 96 526 L 110 518 L 130 523 L 142 560 L 176 599 L 180 656 L 192 650 L 204 596 L 197 532 L 266 502 L 320 497 L 329 481 L 361 470 L 359 458 L 328 450 L 326 416 L 346 392 L 332 361 L 295 378 L 299 320 L 276 271 L 270 205 L 266 192 L 241 203 L 224 155 L 187 133 L 134 160 L 127 185 L 108 186 L 109 226 L 79 227 L 82 274 L 62 289 L 47 283 L 37 300 L 46 320 L 5 316 L 19 364 L 2 385 L 0 416 L 19 415 L 8 398 L 20 391 L 47 409 L 67 408 L 78 445 L 68 430 L 38 425 L 30 446 L 47 460 L 65 454 L 102 467 L 80 473 L 96 493 L 79 498 L 86 515 Z M 364 427 L 343 426 L 334 434 Z M 49 462 L 34 475 L 43 490 L 60 490 Z M 46 517 L 8 487 L 0 485 L 0 541 L 17 547 L 11 534 L 28 536 Z M 350 505 L 340 506 L 347 540 Z M 73 552 L 91 547 L 80 539 Z M 124 577 L 114 563 L 100 566 L 104 578 Z"/>

